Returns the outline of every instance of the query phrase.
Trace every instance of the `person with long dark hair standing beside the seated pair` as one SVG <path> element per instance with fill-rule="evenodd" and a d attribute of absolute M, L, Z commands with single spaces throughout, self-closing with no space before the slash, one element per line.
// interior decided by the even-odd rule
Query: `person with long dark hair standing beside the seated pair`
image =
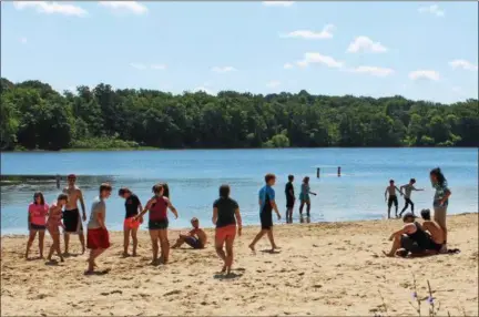
<path fill-rule="evenodd" d="M 439 167 L 430 171 L 429 177 L 432 187 L 436 190 L 432 206 L 435 209 L 434 219 L 444 231 L 444 244 L 440 253 L 447 253 L 447 226 L 446 212 L 449 205 L 451 191 L 448 187 L 447 180 Z"/>

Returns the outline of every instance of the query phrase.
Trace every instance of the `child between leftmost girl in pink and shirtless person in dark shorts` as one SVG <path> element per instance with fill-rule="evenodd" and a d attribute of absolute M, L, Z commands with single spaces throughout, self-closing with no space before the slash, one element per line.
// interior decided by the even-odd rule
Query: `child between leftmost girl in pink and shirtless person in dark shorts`
<path fill-rule="evenodd" d="M 57 252 L 57 255 L 60 257 L 60 260 L 63 262 L 63 256 L 60 250 L 60 227 L 64 229 L 62 224 L 62 209 L 68 203 L 68 195 L 60 194 L 57 197 L 57 203 L 51 204 L 49 208 L 49 217 L 47 221 L 47 228 L 49 231 L 50 236 L 53 239 L 53 244 L 50 246 L 50 252 L 48 255 L 48 260 L 52 262 L 53 253 Z"/>

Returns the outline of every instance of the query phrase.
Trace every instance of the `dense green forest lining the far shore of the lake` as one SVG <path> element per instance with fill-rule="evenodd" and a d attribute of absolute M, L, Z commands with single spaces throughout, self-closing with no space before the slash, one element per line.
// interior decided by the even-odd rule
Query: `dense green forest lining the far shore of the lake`
<path fill-rule="evenodd" d="M 2 151 L 478 146 L 478 100 L 453 104 L 400 95 L 172 94 L 156 90 L 57 92 L 1 79 Z"/>

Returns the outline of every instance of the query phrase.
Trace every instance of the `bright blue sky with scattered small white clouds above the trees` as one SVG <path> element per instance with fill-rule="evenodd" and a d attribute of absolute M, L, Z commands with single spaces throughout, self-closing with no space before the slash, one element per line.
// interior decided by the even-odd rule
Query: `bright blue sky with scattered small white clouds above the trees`
<path fill-rule="evenodd" d="M 2 76 L 181 93 L 478 98 L 477 2 L 2 2 Z"/>

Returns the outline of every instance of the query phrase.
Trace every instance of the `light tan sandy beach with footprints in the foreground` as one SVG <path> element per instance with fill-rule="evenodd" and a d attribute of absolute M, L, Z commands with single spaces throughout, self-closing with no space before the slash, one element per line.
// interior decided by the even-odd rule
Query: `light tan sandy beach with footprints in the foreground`
<path fill-rule="evenodd" d="M 159 316 L 159 315 L 328 315 L 417 316 L 409 301 L 414 276 L 422 315 L 427 280 L 439 315 L 478 315 L 478 214 L 448 217 L 449 247 L 457 255 L 386 258 L 390 233 L 400 221 L 277 225 L 281 253 L 256 255 L 247 245 L 257 233 L 245 227 L 235 242 L 233 277 L 218 274 L 221 262 L 211 241 L 203 250 L 172 250 L 171 263 L 152 266 L 146 231 L 137 257 L 122 258 L 122 233 L 98 260 L 106 275 L 84 276 L 86 255 L 55 266 L 23 258 L 26 236 L 2 236 L 1 315 Z M 170 238 L 177 231 L 170 232 Z M 208 229 L 213 238 L 213 231 Z M 51 238 L 45 238 L 47 247 Z M 71 252 L 80 250 L 73 236 Z M 35 245 L 31 256 L 38 256 Z M 384 299 L 381 299 L 381 297 Z M 384 307 L 386 306 L 386 308 Z M 385 311 L 387 310 L 387 311 Z"/>

